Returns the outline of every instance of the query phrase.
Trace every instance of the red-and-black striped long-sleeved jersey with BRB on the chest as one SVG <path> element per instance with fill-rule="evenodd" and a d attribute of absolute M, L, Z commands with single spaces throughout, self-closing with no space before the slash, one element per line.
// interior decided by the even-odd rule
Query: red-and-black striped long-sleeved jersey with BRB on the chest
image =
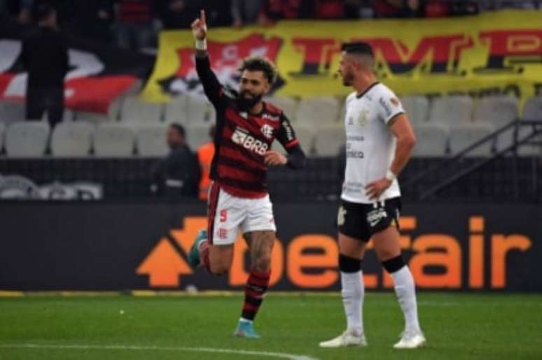
<path fill-rule="evenodd" d="M 265 152 L 271 149 L 275 139 L 286 151 L 299 148 L 288 118 L 281 109 L 265 101 L 259 114 L 240 110 L 237 94 L 218 82 L 211 71 L 209 57 L 196 57 L 196 69 L 204 92 L 216 109 L 216 151 L 211 179 L 234 196 L 258 198 L 267 195 Z"/>

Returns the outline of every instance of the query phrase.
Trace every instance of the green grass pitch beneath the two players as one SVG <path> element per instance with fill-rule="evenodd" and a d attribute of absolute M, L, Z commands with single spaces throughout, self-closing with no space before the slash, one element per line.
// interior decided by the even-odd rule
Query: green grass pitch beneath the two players
<path fill-rule="evenodd" d="M 0 359 L 279 359 L 171 347 L 283 352 L 315 359 L 542 359 L 541 295 L 422 293 L 418 301 L 429 344 L 398 351 L 391 345 L 403 318 L 392 293 L 366 296 L 368 347 L 341 349 L 318 347 L 345 326 L 338 296 L 269 294 L 256 321 L 260 340 L 232 336 L 240 295 L 0 298 Z M 53 347 L 6 347 L 24 344 Z M 104 345 L 139 349 L 100 348 Z M 170 348 L 145 349 L 151 346 Z"/>

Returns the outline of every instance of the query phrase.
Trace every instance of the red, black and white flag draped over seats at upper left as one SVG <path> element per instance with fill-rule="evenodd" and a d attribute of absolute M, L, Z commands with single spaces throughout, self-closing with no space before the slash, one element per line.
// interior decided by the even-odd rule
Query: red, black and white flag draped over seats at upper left
<path fill-rule="evenodd" d="M 20 52 L 29 27 L 0 15 L 0 100 L 23 100 L 27 73 Z M 111 101 L 138 82 L 145 82 L 155 56 L 66 34 L 69 72 L 64 80 L 65 103 L 71 110 L 106 113 Z"/>

